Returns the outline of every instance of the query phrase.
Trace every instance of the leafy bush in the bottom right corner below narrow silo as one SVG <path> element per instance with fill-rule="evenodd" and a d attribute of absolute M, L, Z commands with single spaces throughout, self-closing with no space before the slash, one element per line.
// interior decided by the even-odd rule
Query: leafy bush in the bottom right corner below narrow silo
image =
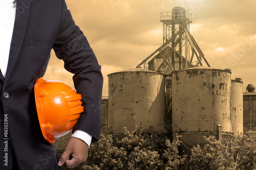
<path fill-rule="evenodd" d="M 193 147 L 190 169 L 256 169 L 256 132 L 248 131 L 222 142 L 204 137 L 205 147 Z"/>

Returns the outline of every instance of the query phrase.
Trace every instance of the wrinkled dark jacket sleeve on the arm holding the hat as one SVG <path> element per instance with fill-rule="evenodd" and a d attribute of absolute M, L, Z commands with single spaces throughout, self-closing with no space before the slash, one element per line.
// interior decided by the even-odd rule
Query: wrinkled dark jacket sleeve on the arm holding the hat
<path fill-rule="evenodd" d="M 62 1 L 62 18 L 53 49 L 62 59 L 64 67 L 74 74 L 77 93 L 82 95 L 84 112 L 73 130 L 80 129 L 92 135 L 92 142 L 99 140 L 100 107 L 103 78 L 101 67 L 87 38 L 75 25 L 65 1 Z"/>

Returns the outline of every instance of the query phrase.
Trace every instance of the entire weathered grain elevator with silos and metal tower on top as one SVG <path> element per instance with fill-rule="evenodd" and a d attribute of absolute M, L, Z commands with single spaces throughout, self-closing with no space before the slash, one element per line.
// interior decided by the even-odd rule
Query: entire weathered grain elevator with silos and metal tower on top
<path fill-rule="evenodd" d="M 109 77 L 108 133 L 123 127 L 181 135 L 182 149 L 243 132 L 243 82 L 230 69 L 212 68 L 189 32 L 184 8 L 160 13 L 163 44 L 136 68 Z M 188 153 L 189 154 L 189 153 Z"/>

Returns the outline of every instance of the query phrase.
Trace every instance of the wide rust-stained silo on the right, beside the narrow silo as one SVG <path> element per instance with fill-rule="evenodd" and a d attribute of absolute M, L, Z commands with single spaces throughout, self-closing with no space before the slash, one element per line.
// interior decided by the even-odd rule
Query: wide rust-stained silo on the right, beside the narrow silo
<path fill-rule="evenodd" d="M 231 72 L 193 67 L 172 74 L 173 133 L 192 148 L 208 135 L 231 135 Z"/>

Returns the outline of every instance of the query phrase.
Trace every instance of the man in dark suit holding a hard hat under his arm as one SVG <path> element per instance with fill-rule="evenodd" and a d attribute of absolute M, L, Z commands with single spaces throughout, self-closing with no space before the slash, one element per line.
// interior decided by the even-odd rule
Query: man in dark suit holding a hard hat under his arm
<path fill-rule="evenodd" d="M 100 133 L 103 79 L 86 37 L 65 0 L 0 0 L 0 28 L 0 169 L 77 166 Z M 74 74 L 84 107 L 59 160 L 41 134 L 33 89 L 45 74 L 52 48 Z"/>

